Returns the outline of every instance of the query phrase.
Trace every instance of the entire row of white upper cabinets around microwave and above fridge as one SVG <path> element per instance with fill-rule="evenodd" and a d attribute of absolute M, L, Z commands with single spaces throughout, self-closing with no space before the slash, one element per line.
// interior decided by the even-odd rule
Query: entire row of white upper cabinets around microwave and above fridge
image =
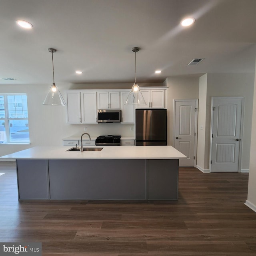
<path fill-rule="evenodd" d="M 166 108 L 166 87 L 143 88 L 147 105 L 136 108 Z M 130 90 L 66 90 L 66 116 L 70 124 L 97 123 L 98 109 L 121 109 L 123 124 L 134 123 L 134 105 L 125 105 Z"/>

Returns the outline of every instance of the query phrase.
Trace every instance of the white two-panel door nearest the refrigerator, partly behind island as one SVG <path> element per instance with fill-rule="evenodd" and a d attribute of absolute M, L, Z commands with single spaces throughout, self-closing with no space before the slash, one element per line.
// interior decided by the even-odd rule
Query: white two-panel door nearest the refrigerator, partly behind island
<path fill-rule="evenodd" d="M 196 140 L 196 100 L 175 102 L 174 148 L 182 152 L 187 159 L 180 159 L 179 166 L 194 166 Z"/>

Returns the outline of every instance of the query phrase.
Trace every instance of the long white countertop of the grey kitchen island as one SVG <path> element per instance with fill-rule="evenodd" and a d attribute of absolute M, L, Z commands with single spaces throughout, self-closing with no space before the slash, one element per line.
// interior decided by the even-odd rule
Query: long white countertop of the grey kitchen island
<path fill-rule="evenodd" d="M 67 146 L 34 147 L 1 158 L 10 159 L 181 159 L 187 158 L 172 146 L 91 146 L 101 151 L 71 152 Z"/>

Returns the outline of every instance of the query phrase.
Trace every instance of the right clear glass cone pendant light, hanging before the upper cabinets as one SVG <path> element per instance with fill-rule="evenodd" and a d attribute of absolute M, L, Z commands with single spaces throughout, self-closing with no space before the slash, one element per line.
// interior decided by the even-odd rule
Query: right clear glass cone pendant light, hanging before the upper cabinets
<path fill-rule="evenodd" d="M 136 84 L 136 52 L 138 52 L 140 48 L 133 47 L 132 51 L 135 52 L 135 81 L 134 85 L 132 86 L 132 90 L 130 91 L 127 100 L 125 102 L 125 105 L 146 105 L 146 102 L 143 98 L 143 95 L 140 91 L 140 87 L 138 84 Z"/>

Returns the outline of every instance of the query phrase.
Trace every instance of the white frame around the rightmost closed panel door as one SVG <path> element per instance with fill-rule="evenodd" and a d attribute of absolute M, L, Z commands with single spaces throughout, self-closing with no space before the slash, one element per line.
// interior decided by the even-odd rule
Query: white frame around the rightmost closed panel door
<path fill-rule="evenodd" d="M 210 132 L 210 157 L 209 157 L 209 172 L 212 172 L 212 133 L 213 133 L 213 106 L 214 100 L 225 100 L 225 99 L 241 99 L 242 109 L 241 109 L 241 128 L 240 128 L 240 144 L 239 144 L 239 156 L 238 156 L 238 172 L 241 172 L 241 162 L 242 162 L 242 141 L 244 135 L 244 96 L 213 96 L 211 104 L 211 132 Z"/>

